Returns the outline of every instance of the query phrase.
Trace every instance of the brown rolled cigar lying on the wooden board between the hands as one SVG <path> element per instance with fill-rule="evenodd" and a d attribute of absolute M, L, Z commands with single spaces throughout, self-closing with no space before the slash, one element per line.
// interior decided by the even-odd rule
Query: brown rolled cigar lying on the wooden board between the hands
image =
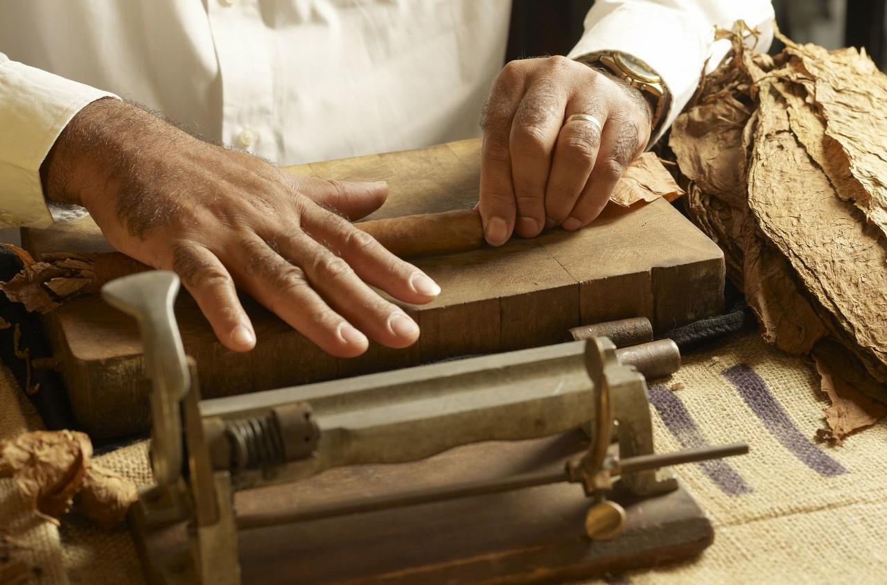
<path fill-rule="evenodd" d="M 483 246 L 481 214 L 473 209 L 387 217 L 354 226 L 402 258 L 465 252 Z"/>

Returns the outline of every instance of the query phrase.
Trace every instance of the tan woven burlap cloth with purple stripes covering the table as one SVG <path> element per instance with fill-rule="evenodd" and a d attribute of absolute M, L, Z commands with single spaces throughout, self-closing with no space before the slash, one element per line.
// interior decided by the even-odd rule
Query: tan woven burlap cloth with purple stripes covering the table
<path fill-rule="evenodd" d="M 650 385 L 659 449 L 745 440 L 751 453 L 676 468 L 715 526 L 710 549 L 691 562 L 609 581 L 887 583 L 887 424 L 843 447 L 813 442 L 827 406 L 818 376 L 755 335 L 691 356 L 677 375 Z M 0 372 L 2 436 L 27 429 L 18 392 Z M 150 478 L 144 443 L 100 460 L 137 481 Z M 9 481 L 0 482 L 3 525 L 17 503 Z M 66 518 L 58 530 L 37 524 L 25 538 L 24 554 L 43 569 L 35 582 L 141 582 L 124 529 L 108 533 Z"/>

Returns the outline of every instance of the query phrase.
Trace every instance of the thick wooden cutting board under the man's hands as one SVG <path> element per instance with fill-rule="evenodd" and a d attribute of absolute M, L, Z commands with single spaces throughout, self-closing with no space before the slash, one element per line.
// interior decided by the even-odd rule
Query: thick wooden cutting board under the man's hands
<path fill-rule="evenodd" d="M 386 180 L 389 201 L 371 218 L 470 209 L 477 201 L 480 142 L 373 154 L 292 167 L 341 180 Z M 51 230 L 26 230 L 35 257 L 45 252 L 107 251 L 90 219 Z M 421 328 L 404 350 L 371 345 L 341 360 L 323 352 L 247 299 L 258 343 L 246 354 L 216 341 L 190 296 L 177 317 L 185 350 L 198 362 L 206 398 L 267 390 L 453 356 L 503 352 L 564 340 L 584 323 L 646 316 L 657 331 L 717 314 L 723 308 L 720 249 L 671 204 L 610 204 L 577 233 L 553 231 L 531 240 L 414 262 L 443 293 L 432 303 L 404 305 Z M 98 296 L 68 301 L 45 316 L 58 369 L 75 415 L 95 438 L 145 431 L 148 423 L 142 345 L 135 321 Z"/>

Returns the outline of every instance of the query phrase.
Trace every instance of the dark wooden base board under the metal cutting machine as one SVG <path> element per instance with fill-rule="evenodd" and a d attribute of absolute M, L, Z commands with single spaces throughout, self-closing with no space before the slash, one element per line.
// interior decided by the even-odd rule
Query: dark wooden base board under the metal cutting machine
<path fill-rule="evenodd" d="M 482 443 L 420 462 L 329 470 L 295 484 L 241 492 L 235 505 L 239 518 L 244 518 L 433 489 L 553 469 L 583 448 L 578 432 Z M 627 521 L 624 533 L 606 542 L 585 536 L 590 501 L 581 486 L 567 483 L 243 530 L 239 533 L 242 582 L 562 582 L 693 557 L 713 540 L 709 520 L 682 488 L 643 500 L 617 490 L 613 499 L 624 506 Z M 177 557 L 184 558 L 184 526 L 152 534 L 136 528 L 146 568 L 175 565 Z M 184 564 L 178 566 L 179 579 L 186 581 Z"/>

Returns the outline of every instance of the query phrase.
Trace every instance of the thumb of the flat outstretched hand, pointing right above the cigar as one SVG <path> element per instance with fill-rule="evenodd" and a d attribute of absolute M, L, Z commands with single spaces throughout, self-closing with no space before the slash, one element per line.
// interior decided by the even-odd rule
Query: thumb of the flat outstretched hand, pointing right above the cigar
<path fill-rule="evenodd" d="M 351 183 L 335 179 L 294 176 L 293 186 L 301 194 L 326 208 L 335 209 L 354 221 L 368 216 L 388 199 L 388 183 Z"/>

